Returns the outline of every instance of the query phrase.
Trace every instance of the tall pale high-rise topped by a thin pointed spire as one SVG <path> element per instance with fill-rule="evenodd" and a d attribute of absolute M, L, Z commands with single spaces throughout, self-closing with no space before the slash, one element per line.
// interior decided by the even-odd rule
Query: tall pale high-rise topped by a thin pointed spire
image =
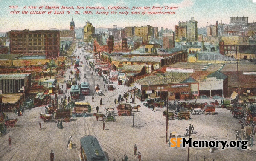
<path fill-rule="evenodd" d="M 191 17 L 191 20 L 187 20 L 186 22 L 179 21 L 179 28 L 186 27 L 186 40 L 188 42 L 194 42 L 198 39 L 198 29 L 197 29 L 197 21 L 194 20 L 194 17 Z"/>

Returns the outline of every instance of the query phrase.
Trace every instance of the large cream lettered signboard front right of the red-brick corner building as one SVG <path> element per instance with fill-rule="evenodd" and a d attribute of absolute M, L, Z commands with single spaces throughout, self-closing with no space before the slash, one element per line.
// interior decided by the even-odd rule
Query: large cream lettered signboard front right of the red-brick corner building
<path fill-rule="evenodd" d="M 199 90 L 223 90 L 223 79 L 198 79 Z"/>

